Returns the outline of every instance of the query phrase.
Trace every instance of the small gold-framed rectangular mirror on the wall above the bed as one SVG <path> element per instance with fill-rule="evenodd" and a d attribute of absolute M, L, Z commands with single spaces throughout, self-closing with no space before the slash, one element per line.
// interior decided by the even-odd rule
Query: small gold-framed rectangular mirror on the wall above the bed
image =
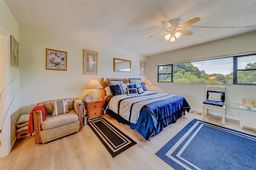
<path fill-rule="evenodd" d="M 131 72 L 131 66 L 130 60 L 114 58 L 114 71 Z"/>

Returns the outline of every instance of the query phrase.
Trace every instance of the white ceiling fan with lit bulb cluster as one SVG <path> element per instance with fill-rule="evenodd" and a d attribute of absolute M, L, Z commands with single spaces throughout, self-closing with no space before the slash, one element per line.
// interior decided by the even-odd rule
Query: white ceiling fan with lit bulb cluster
<path fill-rule="evenodd" d="M 174 20 L 170 20 L 170 21 L 162 21 L 161 23 L 166 28 L 167 32 L 162 32 L 162 33 L 155 34 L 155 35 L 152 35 L 149 37 L 167 34 L 166 36 L 164 36 L 165 40 L 170 39 L 170 42 L 174 42 L 175 37 L 180 38 L 181 35 L 190 36 L 191 34 L 193 34 L 193 32 L 191 32 L 191 31 L 182 30 L 182 29 L 186 28 L 192 24 L 195 24 L 198 21 L 200 21 L 199 17 L 193 18 L 192 20 L 188 20 L 182 24 L 180 24 L 180 20 L 178 20 L 178 19 L 174 19 Z"/>

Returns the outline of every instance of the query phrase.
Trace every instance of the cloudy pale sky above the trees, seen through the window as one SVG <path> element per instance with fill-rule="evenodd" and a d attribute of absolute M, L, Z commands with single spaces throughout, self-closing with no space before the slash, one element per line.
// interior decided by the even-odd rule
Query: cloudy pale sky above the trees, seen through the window
<path fill-rule="evenodd" d="M 255 63 L 256 55 L 239 57 L 238 58 L 238 69 L 245 69 L 248 63 Z M 191 62 L 192 65 L 198 67 L 200 71 L 204 70 L 207 74 L 230 74 L 233 72 L 233 57 L 226 57 L 220 59 L 208 59 L 204 61 Z"/>

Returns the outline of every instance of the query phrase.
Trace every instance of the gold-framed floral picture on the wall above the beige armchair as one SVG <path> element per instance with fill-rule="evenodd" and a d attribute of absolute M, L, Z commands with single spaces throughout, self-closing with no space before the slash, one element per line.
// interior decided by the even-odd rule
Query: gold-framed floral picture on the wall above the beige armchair
<path fill-rule="evenodd" d="M 67 70 L 67 52 L 46 48 L 46 69 Z"/>

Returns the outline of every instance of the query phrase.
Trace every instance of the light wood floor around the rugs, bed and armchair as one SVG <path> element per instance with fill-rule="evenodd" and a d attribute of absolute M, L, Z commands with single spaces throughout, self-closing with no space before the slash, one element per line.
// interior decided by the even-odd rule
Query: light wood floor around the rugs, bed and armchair
<path fill-rule="evenodd" d="M 198 112 L 186 113 L 174 124 L 164 128 L 160 134 L 144 140 L 135 130 L 128 125 L 118 123 L 115 119 L 104 117 L 137 142 L 128 150 L 112 158 L 106 148 L 101 144 L 97 136 L 88 125 L 84 126 L 76 134 L 52 141 L 47 144 L 35 144 L 34 136 L 18 140 L 12 152 L 0 158 L 1 170 L 142 170 L 142 169 L 173 169 L 170 165 L 155 155 L 164 144 L 175 134 L 184 128 L 192 119 L 202 120 Z M 222 118 L 214 115 L 206 115 L 206 122 L 220 125 Z M 242 130 L 239 121 L 226 119 L 224 127 L 253 134 Z"/>

